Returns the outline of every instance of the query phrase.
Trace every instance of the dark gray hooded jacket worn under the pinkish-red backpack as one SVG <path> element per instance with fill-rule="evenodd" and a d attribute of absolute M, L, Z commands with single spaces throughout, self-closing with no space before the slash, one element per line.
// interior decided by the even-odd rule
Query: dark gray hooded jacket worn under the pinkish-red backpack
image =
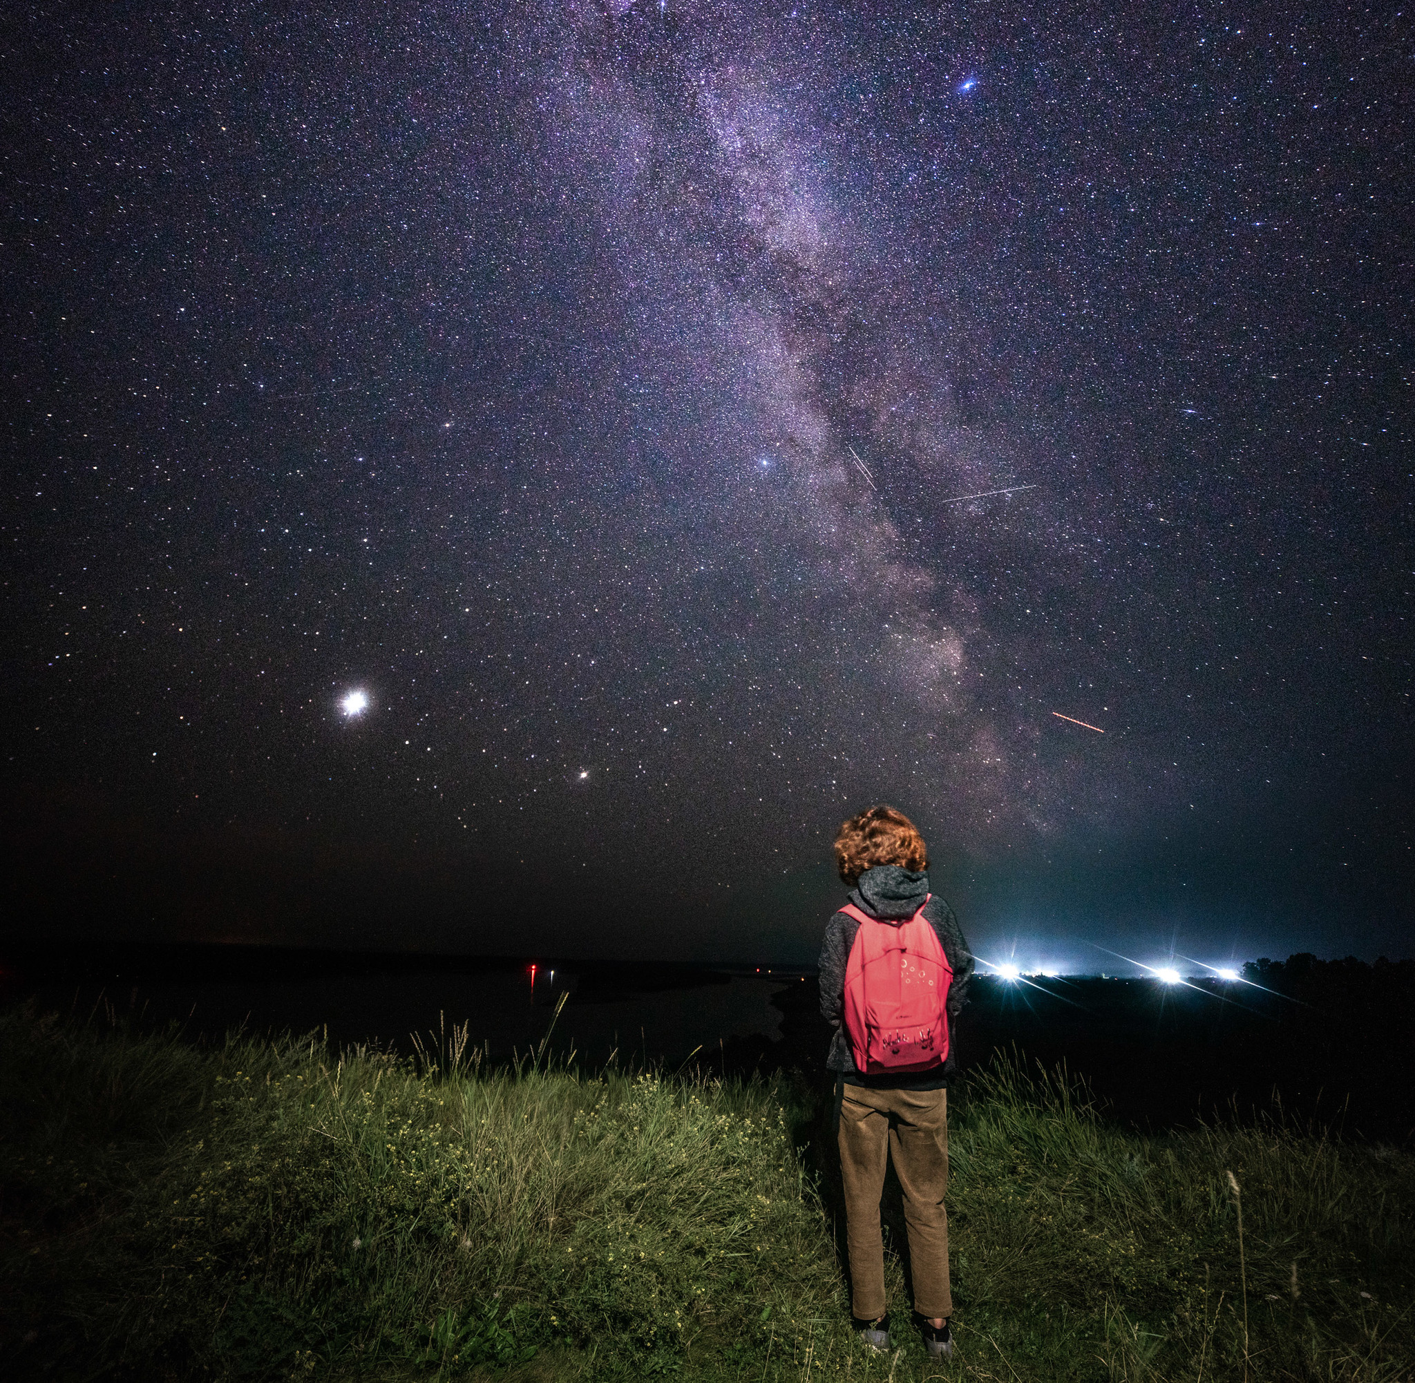
<path fill-rule="evenodd" d="M 850 902 L 860 912 L 883 919 L 911 918 L 927 897 L 928 875 L 903 870 L 897 864 L 877 864 L 873 870 L 866 870 L 850 889 Z M 831 1038 L 831 1055 L 825 1059 L 825 1065 L 826 1069 L 839 1072 L 850 1085 L 908 1090 L 937 1090 L 948 1085 L 948 1072 L 957 1065 L 955 1024 L 959 1011 L 968 1003 L 968 980 L 974 971 L 974 957 L 954 909 L 937 894 L 924 908 L 924 921 L 938 933 L 944 956 L 954 970 L 954 983 L 948 990 L 948 1059 L 937 1070 L 903 1072 L 897 1076 L 865 1076 L 855 1065 L 843 1027 L 845 966 L 860 923 L 845 912 L 836 912 L 826 923 L 825 942 L 821 946 L 821 1015 L 835 1028 L 835 1035 Z"/>

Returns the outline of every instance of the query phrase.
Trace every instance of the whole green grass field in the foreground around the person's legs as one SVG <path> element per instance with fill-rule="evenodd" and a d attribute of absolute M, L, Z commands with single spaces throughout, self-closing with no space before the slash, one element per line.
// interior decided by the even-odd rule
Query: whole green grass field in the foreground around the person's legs
<path fill-rule="evenodd" d="M 0 1015 L 0 1372 L 1415 1379 L 1415 1158 L 1143 1138 L 998 1061 L 949 1092 L 958 1350 L 848 1319 L 829 1102 L 790 1080 L 201 1049 Z M 1241 1232 L 1240 1232 L 1241 1213 Z M 903 1243 L 886 1196 L 887 1243 Z"/>

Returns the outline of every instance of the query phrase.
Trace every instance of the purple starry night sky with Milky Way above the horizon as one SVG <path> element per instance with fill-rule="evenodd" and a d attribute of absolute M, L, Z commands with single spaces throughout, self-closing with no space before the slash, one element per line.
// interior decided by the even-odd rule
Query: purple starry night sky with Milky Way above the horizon
<path fill-rule="evenodd" d="M 13 922 L 809 960 L 887 800 L 986 957 L 1411 955 L 1409 17 L 0 42 Z"/>

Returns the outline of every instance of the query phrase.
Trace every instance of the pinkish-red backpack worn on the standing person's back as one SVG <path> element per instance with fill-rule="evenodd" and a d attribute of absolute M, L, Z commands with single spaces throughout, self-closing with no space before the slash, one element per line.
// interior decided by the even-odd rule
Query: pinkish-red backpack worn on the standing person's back
<path fill-rule="evenodd" d="M 954 970 L 924 908 L 900 921 L 853 904 L 841 911 L 860 923 L 845 964 L 845 1032 L 856 1069 L 877 1076 L 938 1066 L 948 1056 Z"/>

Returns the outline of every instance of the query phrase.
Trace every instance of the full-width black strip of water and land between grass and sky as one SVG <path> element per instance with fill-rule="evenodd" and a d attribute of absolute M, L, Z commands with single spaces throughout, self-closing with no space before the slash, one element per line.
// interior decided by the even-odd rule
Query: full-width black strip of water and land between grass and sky
<path fill-rule="evenodd" d="M 815 977 L 782 967 L 11 943 L 0 949 L 0 1003 L 27 998 L 81 1015 L 106 1004 L 204 1041 L 232 1027 L 318 1029 L 333 1045 L 402 1049 L 410 1032 L 466 1024 L 492 1059 L 549 1035 L 549 1051 L 574 1046 L 590 1063 L 614 1054 L 829 1080 Z M 1268 1113 L 1344 1137 L 1415 1141 L 1412 960 L 1298 955 L 1257 962 L 1241 983 L 983 977 L 955 1042 L 965 1073 L 999 1051 L 1064 1063 L 1107 1117 L 1142 1130 Z"/>

